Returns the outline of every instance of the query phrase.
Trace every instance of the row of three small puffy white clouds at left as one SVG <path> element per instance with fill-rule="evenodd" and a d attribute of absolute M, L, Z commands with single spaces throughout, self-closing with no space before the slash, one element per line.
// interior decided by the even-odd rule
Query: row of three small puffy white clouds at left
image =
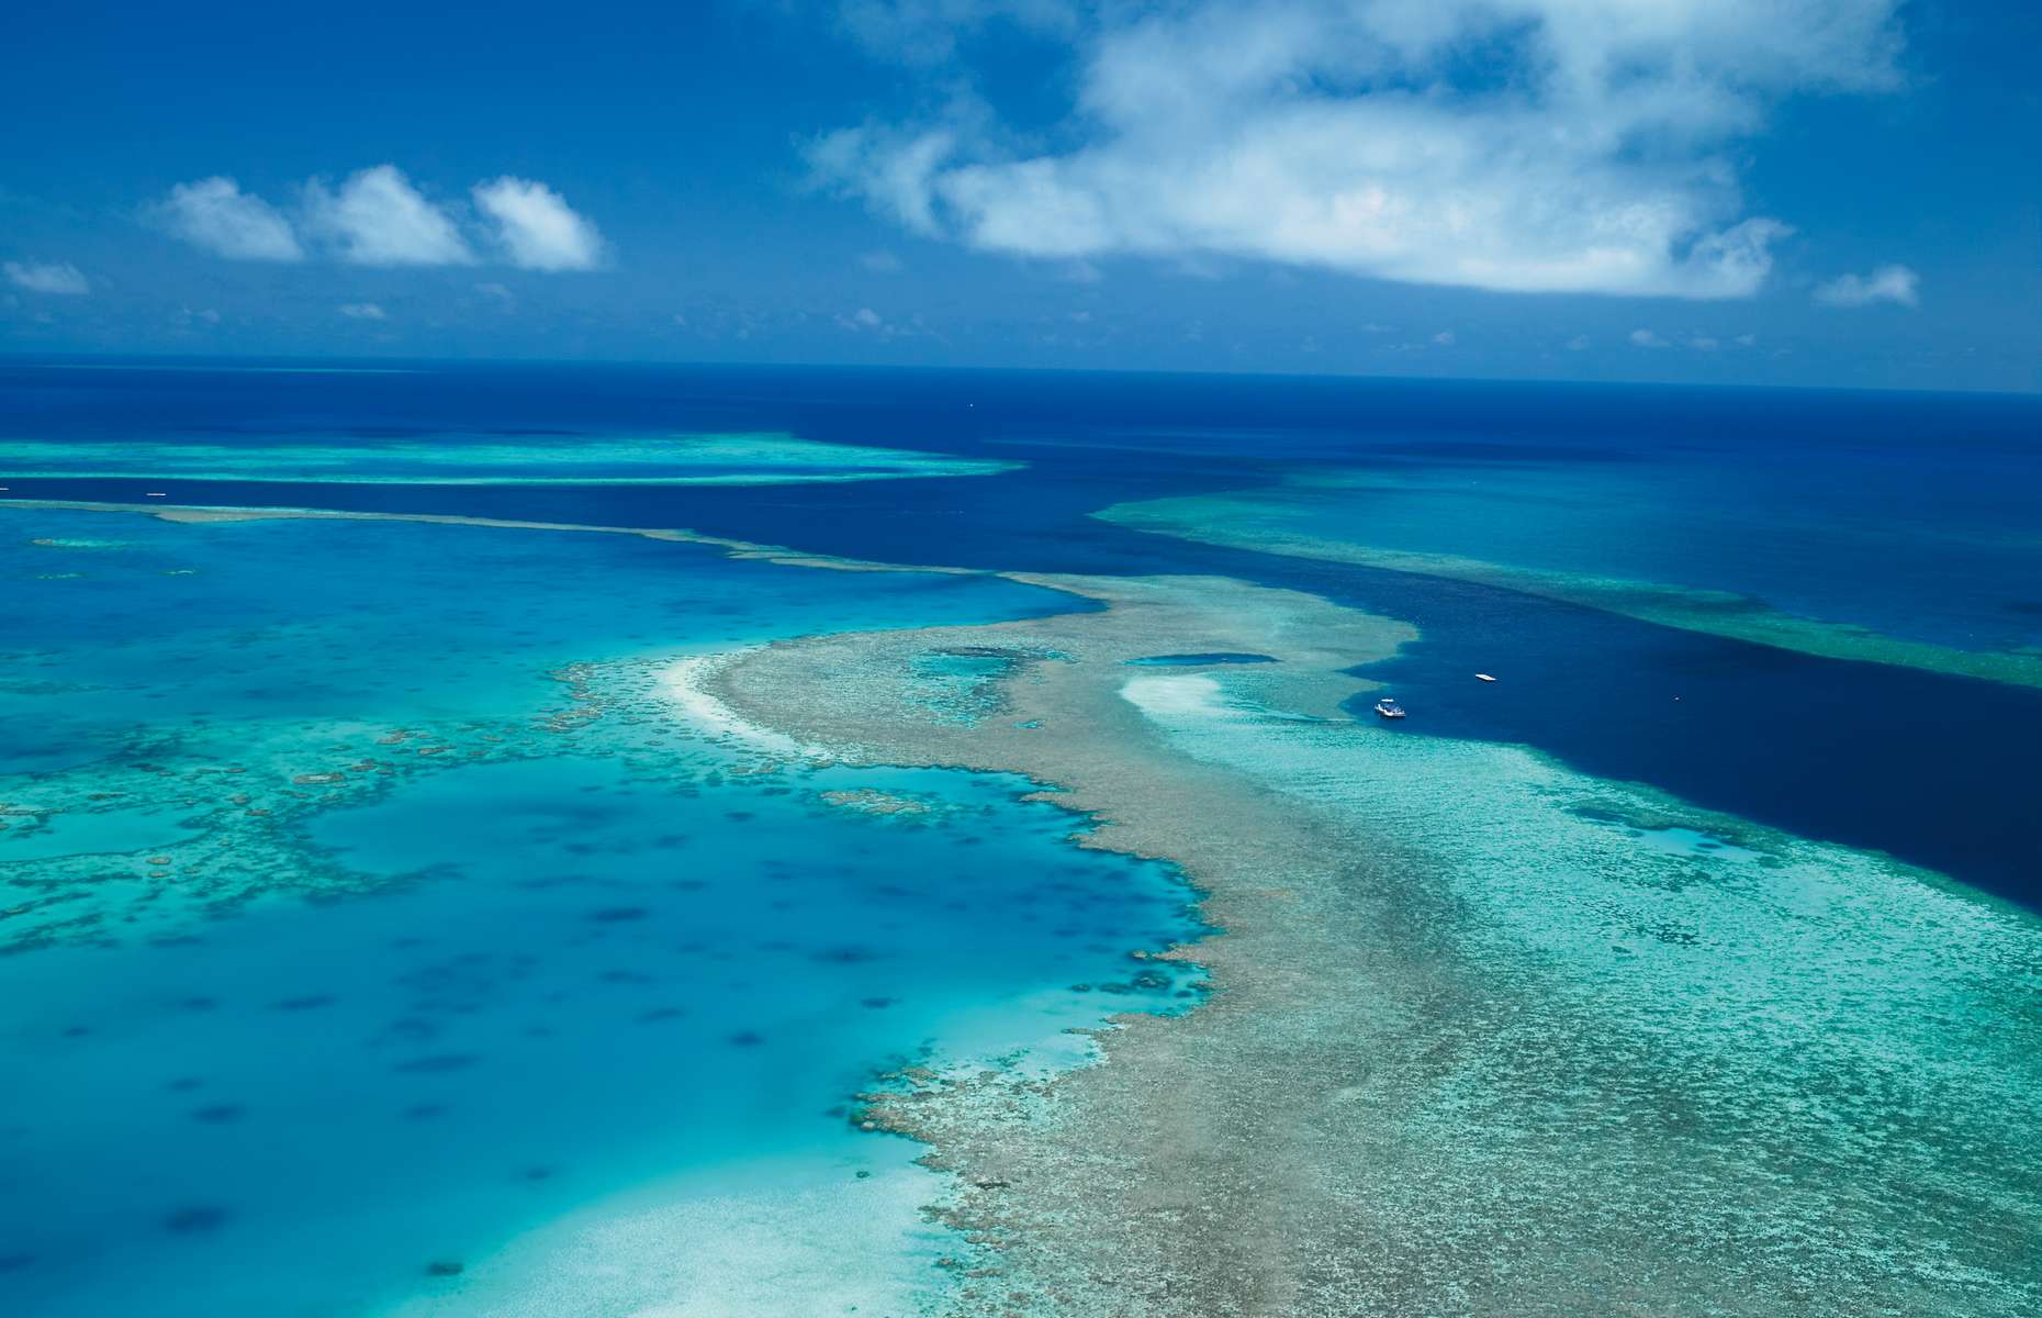
<path fill-rule="evenodd" d="M 472 198 L 474 210 L 435 202 L 382 163 L 339 186 L 306 182 L 290 213 L 214 176 L 178 184 L 149 215 L 186 243 L 237 262 L 321 255 L 349 266 L 474 266 L 488 251 L 523 270 L 602 264 L 602 235 L 553 188 L 504 176 L 476 184 Z"/>

